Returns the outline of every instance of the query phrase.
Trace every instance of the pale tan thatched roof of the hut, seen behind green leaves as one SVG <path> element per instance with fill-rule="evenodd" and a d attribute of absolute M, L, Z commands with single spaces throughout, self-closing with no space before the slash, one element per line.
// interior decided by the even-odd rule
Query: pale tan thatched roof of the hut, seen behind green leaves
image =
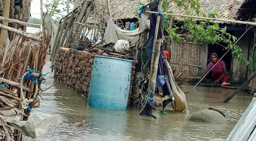
<path fill-rule="evenodd" d="M 238 8 L 244 1 L 253 0 L 200 0 L 200 3 L 201 10 L 204 13 L 216 10 L 219 12 L 219 18 L 236 20 L 238 16 Z M 137 18 L 135 16 L 135 11 L 139 7 L 139 2 L 142 2 L 143 4 L 148 3 L 147 0 L 110 0 L 113 19 Z M 185 11 L 179 8 L 173 0 L 170 0 L 169 7 L 175 14 L 185 14 Z M 100 23 L 100 13 L 105 17 L 108 16 L 106 0 L 95 0 L 94 12 L 89 18 L 88 23 Z"/>

